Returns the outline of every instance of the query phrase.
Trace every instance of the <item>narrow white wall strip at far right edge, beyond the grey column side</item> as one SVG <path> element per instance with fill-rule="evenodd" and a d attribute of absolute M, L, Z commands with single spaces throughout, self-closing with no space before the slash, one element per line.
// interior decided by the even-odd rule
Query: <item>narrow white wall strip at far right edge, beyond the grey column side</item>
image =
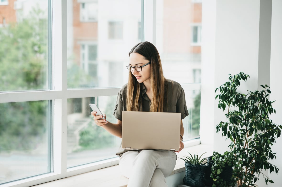
<path fill-rule="evenodd" d="M 271 115 L 271 119 L 276 124 L 282 124 L 282 1 L 272 0 L 272 28 L 271 28 L 271 56 L 270 56 L 270 101 L 274 101 L 273 108 L 276 110 L 276 114 Z M 274 184 L 269 186 L 282 186 L 282 137 L 277 138 L 276 144 L 272 149 L 276 152 L 277 158 L 273 161 L 280 172 L 277 174 L 270 174 L 270 178 L 274 181 Z"/>

